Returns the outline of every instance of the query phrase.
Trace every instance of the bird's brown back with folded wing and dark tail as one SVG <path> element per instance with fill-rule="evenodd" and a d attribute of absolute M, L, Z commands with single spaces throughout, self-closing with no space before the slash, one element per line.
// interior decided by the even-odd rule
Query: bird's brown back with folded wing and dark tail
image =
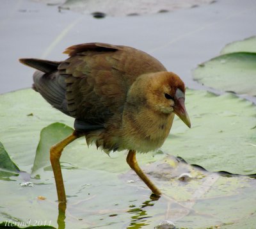
<path fill-rule="evenodd" d="M 138 76 L 166 70 L 157 59 L 131 47 L 84 43 L 65 53 L 70 58 L 61 62 L 20 61 L 39 70 L 34 89 L 88 130 L 104 127 L 114 113 L 122 113 L 127 91 Z"/>

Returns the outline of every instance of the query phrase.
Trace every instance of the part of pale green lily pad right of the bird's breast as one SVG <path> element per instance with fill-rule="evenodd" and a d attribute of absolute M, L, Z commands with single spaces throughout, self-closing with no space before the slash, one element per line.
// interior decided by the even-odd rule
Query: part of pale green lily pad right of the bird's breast
<path fill-rule="evenodd" d="M 191 129 L 175 118 L 162 150 L 209 171 L 256 173 L 256 106 L 232 93 L 186 93 Z"/>

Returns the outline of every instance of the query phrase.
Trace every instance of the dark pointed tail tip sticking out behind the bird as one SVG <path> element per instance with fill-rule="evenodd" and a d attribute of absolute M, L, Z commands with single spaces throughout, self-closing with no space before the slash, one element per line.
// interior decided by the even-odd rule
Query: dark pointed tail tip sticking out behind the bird
<path fill-rule="evenodd" d="M 29 67 L 36 68 L 41 72 L 54 72 L 57 70 L 61 62 L 58 61 L 49 61 L 45 59 L 33 59 L 33 58 L 22 58 L 19 59 L 20 63 L 28 65 Z"/>

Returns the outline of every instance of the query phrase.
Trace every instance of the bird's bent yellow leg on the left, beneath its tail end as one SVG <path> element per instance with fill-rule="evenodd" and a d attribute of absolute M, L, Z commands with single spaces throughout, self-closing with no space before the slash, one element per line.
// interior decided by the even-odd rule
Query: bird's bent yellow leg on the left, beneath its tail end
<path fill-rule="evenodd" d="M 82 136 L 81 134 L 78 134 L 76 131 L 74 131 L 72 134 L 70 134 L 70 136 L 63 139 L 56 145 L 53 145 L 50 150 L 52 171 L 54 173 L 54 179 L 55 179 L 55 183 L 56 183 L 56 189 L 57 189 L 59 203 L 67 202 L 66 194 L 65 194 L 65 187 L 64 187 L 62 173 L 61 173 L 61 167 L 60 167 L 61 152 L 63 151 L 63 148 L 65 148 L 65 146 L 67 146 L 69 143 L 72 143 L 72 141 L 76 140 L 77 138 L 80 138 L 81 136 Z"/>

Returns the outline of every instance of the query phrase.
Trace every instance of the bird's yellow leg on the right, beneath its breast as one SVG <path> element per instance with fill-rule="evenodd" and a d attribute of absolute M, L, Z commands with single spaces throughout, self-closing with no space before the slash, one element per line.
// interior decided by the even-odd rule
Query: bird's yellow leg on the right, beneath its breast
<path fill-rule="evenodd" d="M 135 150 L 129 150 L 129 153 L 126 158 L 127 163 L 132 168 L 132 170 L 137 173 L 137 175 L 143 180 L 145 184 L 151 189 L 152 193 L 160 195 L 161 191 L 157 189 L 157 187 L 149 180 L 149 178 L 143 173 L 140 166 L 138 165 L 138 162 L 136 160 L 136 151 Z"/>

